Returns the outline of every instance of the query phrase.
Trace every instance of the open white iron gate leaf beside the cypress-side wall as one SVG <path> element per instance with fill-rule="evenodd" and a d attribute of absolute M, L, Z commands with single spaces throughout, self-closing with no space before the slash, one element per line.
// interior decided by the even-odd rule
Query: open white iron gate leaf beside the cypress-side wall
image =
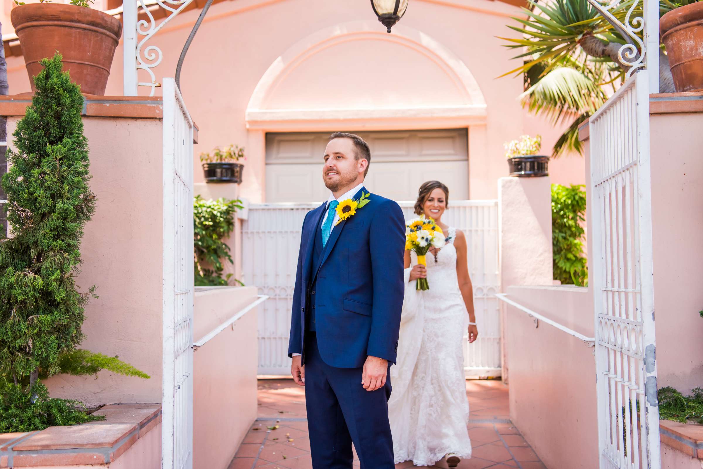
<path fill-rule="evenodd" d="M 193 468 L 193 120 L 164 80 L 162 468 Z"/>

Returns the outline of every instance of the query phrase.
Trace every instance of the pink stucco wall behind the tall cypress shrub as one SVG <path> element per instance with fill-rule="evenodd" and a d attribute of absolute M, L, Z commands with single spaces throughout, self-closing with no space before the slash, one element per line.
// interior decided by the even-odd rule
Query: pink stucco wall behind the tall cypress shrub
<path fill-rule="evenodd" d="M 18 119 L 8 121 L 8 136 Z M 46 380 L 53 397 L 86 404 L 161 402 L 162 126 L 160 119 L 84 117 L 90 187 L 96 194 L 81 246 L 82 291 L 97 286 L 86 305 L 82 348 L 118 355 L 151 378 L 101 371 Z M 8 143 L 13 147 L 12 141 Z"/>

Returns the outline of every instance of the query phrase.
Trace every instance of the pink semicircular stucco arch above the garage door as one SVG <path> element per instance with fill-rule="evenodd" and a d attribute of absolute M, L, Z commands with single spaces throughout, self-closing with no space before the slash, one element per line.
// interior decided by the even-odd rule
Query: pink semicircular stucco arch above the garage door
<path fill-rule="evenodd" d="M 470 70 L 423 32 L 373 21 L 335 25 L 298 41 L 252 93 L 247 128 L 449 128 L 483 124 L 486 103 Z"/>

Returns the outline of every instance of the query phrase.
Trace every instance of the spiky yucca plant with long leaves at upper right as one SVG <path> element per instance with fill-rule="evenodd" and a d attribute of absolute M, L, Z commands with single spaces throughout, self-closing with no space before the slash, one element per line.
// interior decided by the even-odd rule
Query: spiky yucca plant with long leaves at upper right
<path fill-rule="evenodd" d="M 693 1 L 661 0 L 659 12 L 663 15 Z M 618 53 L 624 44 L 634 44 L 634 41 L 616 22 L 604 18 L 588 0 L 530 1 L 529 7 L 523 9 L 525 18 L 513 18 L 517 25 L 508 25 L 519 32 L 520 37 L 501 38 L 507 41 L 506 47 L 521 52 L 515 59 L 522 61 L 520 67 L 503 76 L 526 74 L 528 86 L 522 96 L 523 105 L 549 114 L 555 125 L 563 121 L 569 123 L 567 131 L 557 140 L 553 157 L 569 150 L 582 152 L 579 125 L 605 103 L 624 79 L 629 67 L 619 60 Z M 623 24 L 628 21 L 630 11 L 631 22 L 642 16 L 642 2 L 635 4 L 635 0 L 624 0 L 610 9 Z M 638 34 L 641 39 L 642 32 Z M 667 56 L 661 50 L 651 53 L 659 54 L 660 91 L 673 92 Z"/>

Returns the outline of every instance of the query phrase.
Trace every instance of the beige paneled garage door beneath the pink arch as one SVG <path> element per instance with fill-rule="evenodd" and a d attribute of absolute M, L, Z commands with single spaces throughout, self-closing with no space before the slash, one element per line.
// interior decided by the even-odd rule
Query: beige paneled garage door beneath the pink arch
<path fill-rule="evenodd" d="M 414 200 L 426 180 L 440 180 L 452 199 L 468 199 L 467 129 L 355 132 L 371 149 L 368 190 L 393 200 Z M 330 133 L 266 134 L 266 202 L 321 202 Z"/>

